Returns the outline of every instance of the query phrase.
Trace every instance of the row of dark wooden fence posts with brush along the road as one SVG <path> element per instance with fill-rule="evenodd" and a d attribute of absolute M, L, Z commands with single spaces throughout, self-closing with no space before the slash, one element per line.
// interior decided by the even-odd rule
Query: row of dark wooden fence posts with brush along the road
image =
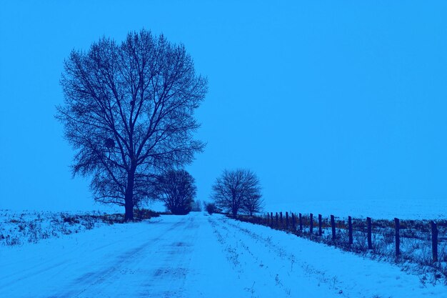
<path fill-rule="evenodd" d="M 238 217 L 353 252 L 371 252 L 439 269 L 447 277 L 447 221 L 358 219 L 269 212 Z"/>

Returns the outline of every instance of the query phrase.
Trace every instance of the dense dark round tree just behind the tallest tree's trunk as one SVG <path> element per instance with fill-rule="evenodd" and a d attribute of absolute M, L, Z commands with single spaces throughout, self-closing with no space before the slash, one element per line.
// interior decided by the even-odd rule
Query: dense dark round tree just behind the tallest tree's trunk
<path fill-rule="evenodd" d="M 196 197 L 194 177 L 184 169 L 169 170 L 157 182 L 157 194 L 172 214 L 188 214 Z M 200 204 L 200 203 L 199 203 Z"/>

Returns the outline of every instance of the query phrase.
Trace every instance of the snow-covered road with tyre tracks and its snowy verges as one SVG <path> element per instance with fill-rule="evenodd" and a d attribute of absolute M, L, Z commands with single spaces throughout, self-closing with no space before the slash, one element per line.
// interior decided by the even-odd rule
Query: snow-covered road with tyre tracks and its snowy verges
<path fill-rule="evenodd" d="M 386 262 L 214 214 L 0 248 L 0 297 L 447 297 Z"/>

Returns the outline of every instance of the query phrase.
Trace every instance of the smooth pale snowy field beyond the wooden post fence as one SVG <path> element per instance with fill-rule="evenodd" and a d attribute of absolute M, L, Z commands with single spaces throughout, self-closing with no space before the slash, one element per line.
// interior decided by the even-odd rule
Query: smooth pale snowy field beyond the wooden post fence
<path fill-rule="evenodd" d="M 301 212 L 330 214 L 347 218 L 372 217 L 374 219 L 447 219 L 447 199 L 407 199 L 386 200 L 375 199 L 368 201 L 343 200 L 297 200 L 293 204 L 267 204 L 266 212 Z"/>

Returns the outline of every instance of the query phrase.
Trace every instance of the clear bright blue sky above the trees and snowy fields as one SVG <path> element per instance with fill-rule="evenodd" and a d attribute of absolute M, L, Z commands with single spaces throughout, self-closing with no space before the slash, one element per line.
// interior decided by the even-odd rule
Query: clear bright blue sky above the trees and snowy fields
<path fill-rule="evenodd" d="M 446 2 L 18 2 L 0 4 L 0 209 L 101 208 L 54 119 L 62 62 L 141 28 L 208 76 L 199 199 L 237 167 L 268 208 L 447 199 Z"/>

